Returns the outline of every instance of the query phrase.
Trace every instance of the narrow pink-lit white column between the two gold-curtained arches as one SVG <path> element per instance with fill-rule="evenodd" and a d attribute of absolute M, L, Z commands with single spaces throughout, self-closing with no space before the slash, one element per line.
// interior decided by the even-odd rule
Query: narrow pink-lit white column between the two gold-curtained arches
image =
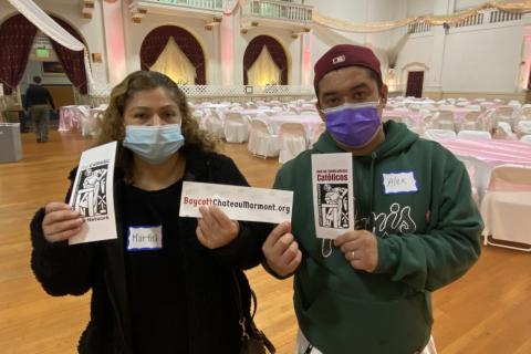
<path fill-rule="evenodd" d="M 235 17 L 223 14 L 220 31 L 221 82 L 223 86 L 235 85 Z"/>

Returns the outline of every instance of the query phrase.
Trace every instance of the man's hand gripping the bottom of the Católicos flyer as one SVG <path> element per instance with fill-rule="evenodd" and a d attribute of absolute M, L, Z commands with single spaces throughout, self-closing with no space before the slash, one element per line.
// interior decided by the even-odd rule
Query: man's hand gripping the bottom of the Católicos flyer
<path fill-rule="evenodd" d="M 378 266 L 378 240 L 367 230 L 347 231 L 334 241 L 352 268 L 374 272 Z"/>

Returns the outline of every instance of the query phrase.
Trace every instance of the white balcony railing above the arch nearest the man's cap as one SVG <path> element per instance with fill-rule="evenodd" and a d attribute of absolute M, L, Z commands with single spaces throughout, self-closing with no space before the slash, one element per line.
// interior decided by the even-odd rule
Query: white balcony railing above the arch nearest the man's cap
<path fill-rule="evenodd" d="M 303 22 L 312 21 L 313 7 L 277 0 L 251 0 L 242 6 L 242 17 Z"/>

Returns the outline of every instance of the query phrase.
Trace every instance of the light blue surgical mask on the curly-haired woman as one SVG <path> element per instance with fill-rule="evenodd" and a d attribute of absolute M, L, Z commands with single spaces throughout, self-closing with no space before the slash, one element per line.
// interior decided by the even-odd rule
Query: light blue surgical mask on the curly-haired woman
<path fill-rule="evenodd" d="M 185 137 L 180 133 L 180 124 L 127 125 L 123 145 L 146 163 L 157 165 L 185 145 Z"/>

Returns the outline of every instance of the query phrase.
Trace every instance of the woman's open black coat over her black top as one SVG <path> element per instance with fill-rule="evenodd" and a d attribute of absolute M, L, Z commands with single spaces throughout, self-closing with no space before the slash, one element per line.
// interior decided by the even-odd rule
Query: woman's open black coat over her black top
<path fill-rule="evenodd" d="M 233 162 L 222 155 L 187 149 L 185 180 L 248 186 Z M 91 321 L 79 345 L 80 353 L 134 353 L 124 259 L 124 237 L 119 200 L 119 171 L 116 171 L 114 200 L 118 238 L 116 240 L 67 246 L 44 239 L 40 209 L 31 222 L 33 251 L 31 267 L 51 295 L 81 295 L 92 289 Z M 75 178 L 75 170 L 70 179 Z M 66 200 L 72 190 L 69 190 Z M 190 354 L 237 354 L 241 332 L 238 324 L 237 275 L 242 293 L 242 309 L 249 319 L 250 288 L 242 269 L 262 260 L 261 244 L 269 226 L 240 222 L 240 233 L 230 244 L 209 250 L 196 237 L 197 220 L 181 218 L 184 237 L 181 267 L 186 272 L 186 305 Z M 249 322 L 249 321 L 247 321 Z"/>

